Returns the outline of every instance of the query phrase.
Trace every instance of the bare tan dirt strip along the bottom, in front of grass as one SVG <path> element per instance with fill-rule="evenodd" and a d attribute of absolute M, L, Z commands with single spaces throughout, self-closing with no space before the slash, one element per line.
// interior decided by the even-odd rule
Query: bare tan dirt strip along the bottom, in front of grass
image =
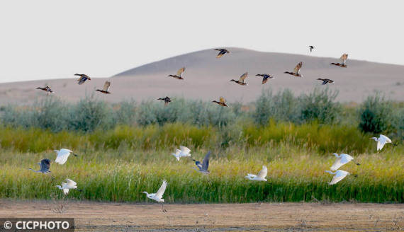
<path fill-rule="evenodd" d="M 0 200 L 0 217 L 74 217 L 76 231 L 403 231 L 404 204 L 127 204 Z"/>

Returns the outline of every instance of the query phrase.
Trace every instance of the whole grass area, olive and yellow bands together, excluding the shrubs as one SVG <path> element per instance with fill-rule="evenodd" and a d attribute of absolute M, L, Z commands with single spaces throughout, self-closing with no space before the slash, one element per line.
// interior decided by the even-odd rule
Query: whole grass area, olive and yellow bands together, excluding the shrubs
<path fill-rule="evenodd" d="M 62 197 L 55 185 L 70 178 L 84 191 L 71 191 L 68 198 L 145 202 L 141 192 L 157 191 L 166 179 L 166 202 L 404 202 L 403 145 L 387 144 L 376 153 L 369 134 L 346 125 L 269 123 L 220 129 L 168 123 L 93 133 L 3 127 L 0 136 L 0 197 Z M 170 153 L 179 145 L 189 146 L 197 160 L 211 150 L 211 174 L 192 170 L 189 158 L 177 162 Z M 63 166 L 52 163 L 55 179 L 27 170 L 38 168 L 42 158 L 54 160 L 52 150 L 61 147 L 79 157 L 69 157 Z M 332 152 L 354 156 L 361 166 L 348 163 L 340 169 L 358 178 L 327 185 L 332 176 L 324 170 L 335 159 Z M 262 165 L 268 166 L 268 182 L 245 180 Z"/>

